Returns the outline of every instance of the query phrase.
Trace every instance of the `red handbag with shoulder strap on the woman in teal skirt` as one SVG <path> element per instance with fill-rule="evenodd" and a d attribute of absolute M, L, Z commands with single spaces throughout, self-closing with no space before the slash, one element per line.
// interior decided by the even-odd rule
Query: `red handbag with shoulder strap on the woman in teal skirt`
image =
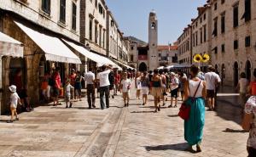
<path fill-rule="evenodd" d="M 196 91 L 195 91 L 195 94 L 197 93 L 198 91 L 198 88 L 200 87 L 201 85 L 201 81 L 199 82 L 199 85 L 198 87 L 196 88 Z M 194 97 L 192 99 L 192 102 L 194 102 L 194 99 L 195 99 L 195 94 L 194 94 Z M 178 116 L 181 117 L 183 120 L 189 120 L 189 113 L 190 113 L 190 109 L 191 109 L 191 106 L 189 104 L 186 104 L 186 101 L 183 102 L 183 104 L 181 104 L 181 107 L 179 108 L 179 112 L 178 112 Z"/>

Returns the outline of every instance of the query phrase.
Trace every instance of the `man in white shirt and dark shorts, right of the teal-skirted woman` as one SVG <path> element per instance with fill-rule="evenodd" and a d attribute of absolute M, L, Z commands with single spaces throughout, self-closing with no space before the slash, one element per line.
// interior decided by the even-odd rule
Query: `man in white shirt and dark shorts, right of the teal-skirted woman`
<path fill-rule="evenodd" d="M 209 72 L 205 75 L 205 80 L 207 82 L 207 101 L 209 105 L 209 110 L 215 109 L 214 98 L 215 90 L 218 83 L 220 83 L 220 77 L 214 72 L 212 65 L 208 66 Z"/>

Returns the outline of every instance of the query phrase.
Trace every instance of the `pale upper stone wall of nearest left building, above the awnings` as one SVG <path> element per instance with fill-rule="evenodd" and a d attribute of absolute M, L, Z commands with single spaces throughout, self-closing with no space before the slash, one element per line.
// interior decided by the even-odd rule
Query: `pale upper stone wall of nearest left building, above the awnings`
<path fill-rule="evenodd" d="M 59 1 L 51 1 L 50 14 L 45 14 L 41 9 L 41 0 L 27 0 L 27 3 L 20 3 L 19 0 L 0 0 L 0 8 L 10 10 L 19 14 L 26 20 L 31 20 L 37 25 L 41 25 L 50 31 L 58 32 L 64 36 L 70 37 L 79 42 L 79 9 L 80 1 L 76 0 L 77 4 L 77 30 L 72 30 L 72 3 L 73 0 L 66 1 L 66 24 L 61 25 L 60 4 Z M 55 9 L 57 8 L 57 9 Z"/>

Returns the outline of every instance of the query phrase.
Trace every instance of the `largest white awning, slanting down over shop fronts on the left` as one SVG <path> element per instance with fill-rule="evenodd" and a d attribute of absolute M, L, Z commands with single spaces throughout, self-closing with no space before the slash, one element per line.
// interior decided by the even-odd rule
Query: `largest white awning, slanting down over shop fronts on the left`
<path fill-rule="evenodd" d="M 46 60 L 81 64 L 79 57 L 74 54 L 61 40 L 55 36 L 48 36 L 38 31 L 34 31 L 25 25 L 15 21 L 15 24 L 40 47 L 44 53 Z"/>

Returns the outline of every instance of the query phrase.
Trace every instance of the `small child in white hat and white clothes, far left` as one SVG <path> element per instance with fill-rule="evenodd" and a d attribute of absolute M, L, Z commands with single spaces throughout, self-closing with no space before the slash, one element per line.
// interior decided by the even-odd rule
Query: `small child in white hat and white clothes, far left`
<path fill-rule="evenodd" d="M 20 103 L 20 97 L 18 93 L 16 93 L 16 86 L 12 85 L 9 87 L 9 91 L 11 93 L 10 95 L 10 111 L 11 111 L 11 120 L 8 121 L 9 123 L 12 123 L 14 121 L 14 115 L 16 116 L 16 121 L 19 121 L 18 114 L 17 114 L 17 105 Z"/>

